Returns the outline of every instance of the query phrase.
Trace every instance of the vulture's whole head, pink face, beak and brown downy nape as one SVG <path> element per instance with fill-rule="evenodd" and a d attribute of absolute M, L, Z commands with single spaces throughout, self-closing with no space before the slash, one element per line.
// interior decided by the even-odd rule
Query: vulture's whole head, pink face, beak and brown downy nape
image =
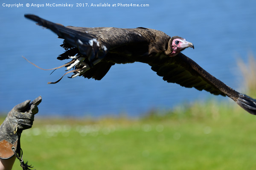
<path fill-rule="evenodd" d="M 174 57 L 188 47 L 194 49 L 194 45 L 191 42 L 186 41 L 186 39 L 182 37 L 174 36 L 168 42 L 168 49 L 166 50 L 166 54 L 170 57 Z"/>

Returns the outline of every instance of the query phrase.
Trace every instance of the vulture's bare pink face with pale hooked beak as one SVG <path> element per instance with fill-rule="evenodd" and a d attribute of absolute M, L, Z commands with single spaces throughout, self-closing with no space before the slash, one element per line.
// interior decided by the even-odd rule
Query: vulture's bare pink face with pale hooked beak
<path fill-rule="evenodd" d="M 194 45 L 191 42 L 186 41 L 183 38 L 175 38 L 172 40 L 172 53 L 170 57 L 176 56 L 180 51 L 183 51 L 185 48 L 191 47 L 194 49 Z"/>

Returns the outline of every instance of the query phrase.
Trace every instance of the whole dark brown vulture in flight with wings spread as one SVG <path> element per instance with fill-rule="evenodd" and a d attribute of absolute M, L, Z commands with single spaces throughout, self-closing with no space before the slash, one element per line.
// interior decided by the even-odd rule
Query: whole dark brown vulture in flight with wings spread
<path fill-rule="evenodd" d="M 199 91 L 205 90 L 214 95 L 228 96 L 245 111 L 256 115 L 255 99 L 233 90 L 181 53 L 185 48 L 194 48 L 191 42 L 182 37 L 170 37 L 162 31 L 143 27 L 63 26 L 33 14 L 24 16 L 64 39 L 60 46 L 65 52 L 57 59 L 71 60 L 63 65 L 67 71 L 73 68 L 67 72 L 73 73 L 71 78 L 83 76 L 100 80 L 116 63 L 143 62 L 150 65 L 167 82 L 186 88 L 193 87 Z M 60 79 L 50 83 L 59 81 Z"/>

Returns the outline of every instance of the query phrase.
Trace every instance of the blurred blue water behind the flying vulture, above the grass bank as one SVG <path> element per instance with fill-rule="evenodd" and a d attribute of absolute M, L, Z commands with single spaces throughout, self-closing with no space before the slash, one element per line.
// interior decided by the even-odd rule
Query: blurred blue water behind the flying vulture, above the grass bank
<path fill-rule="evenodd" d="M 6 1 L 8 3 L 9 1 Z M 13 0 L 12 4 L 20 3 Z M 47 29 L 23 17 L 36 14 L 65 26 L 146 27 L 179 35 L 195 45 L 184 54 L 209 73 L 237 90 L 242 89 L 237 59 L 246 61 L 248 53 L 256 54 L 256 1 L 254 0 L 52 0 L 44 3 L 71 3 L 70 7 L 8 8 L 0 4 L 0 112 L 9 111 L 17 103 L 41 95 L 41 116 L 104 116 L 127 114 L 140 116 L 151 109 L 169 109 L 195 100 L 217 97 L 204 91 L 183 88 L 164 82 L 143 63 L 114 65 L 101 80 L 65 76 L 64 68 L 42 71 L 21 56 L 42 68 L 54 68 L 66 61 L 56 59 L 64 49 L 62 40 Z M 76 3 L 142 3 L 149 7 L 75 7 Z"/>

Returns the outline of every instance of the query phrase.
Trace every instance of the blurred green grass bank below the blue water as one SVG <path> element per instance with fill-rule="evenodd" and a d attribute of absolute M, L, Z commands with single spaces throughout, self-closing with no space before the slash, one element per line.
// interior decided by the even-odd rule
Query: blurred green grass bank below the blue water
<path fill-rule="evenodd" d="M 255 170 L 255 130 L 256 116 L 209 101 L 137 120 L 35 117 L 21 146 L 37 170 Z"/>

